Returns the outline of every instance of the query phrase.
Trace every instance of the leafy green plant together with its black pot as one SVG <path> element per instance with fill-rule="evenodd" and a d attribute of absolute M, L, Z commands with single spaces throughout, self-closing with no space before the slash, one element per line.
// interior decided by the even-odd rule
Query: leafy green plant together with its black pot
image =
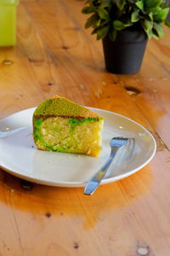
<path fill-rule="evenodd" d="M 85 28 L 102 39 L 105 67 L 111 73 L 137 73 L 148 38 L 163 36 L 168 3 L 163 0 L 88 0 L 83 14 L 91 14 Z"/>

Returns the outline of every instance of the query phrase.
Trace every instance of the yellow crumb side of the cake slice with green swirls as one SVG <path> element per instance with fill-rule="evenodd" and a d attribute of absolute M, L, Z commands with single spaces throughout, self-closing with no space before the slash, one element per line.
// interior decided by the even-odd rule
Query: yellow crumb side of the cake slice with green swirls
<path fill-rule="evenodd" d="M 99 119 L 62 117 L 37 119 L 37 147 L 42 150 L 99 156 L 103 122 Z"/>

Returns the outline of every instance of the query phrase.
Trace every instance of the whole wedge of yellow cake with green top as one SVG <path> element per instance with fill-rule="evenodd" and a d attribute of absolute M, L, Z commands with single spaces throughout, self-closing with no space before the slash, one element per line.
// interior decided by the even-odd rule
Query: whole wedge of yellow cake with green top
<path fill-rule="evenodd" d="M 54 96 L 33 114 L 33 137 L 42 150 L 99 156 L 104 118 L 75 102 Z"/>

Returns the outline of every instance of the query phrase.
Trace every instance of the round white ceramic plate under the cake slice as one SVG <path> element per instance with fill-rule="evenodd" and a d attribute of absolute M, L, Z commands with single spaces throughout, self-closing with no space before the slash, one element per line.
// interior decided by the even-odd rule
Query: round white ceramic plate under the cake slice
<path fill-rule="evenodd" d="M 0 121 L 0 166 L 16 177 L 60 187 L 82 187 L 110 154 L 111 137 L 134 137 L 135 146 L 116 155 L 101 183 L 111 183 L 139 171 L 156 153 L 149 131 L 131 119 L 109 111 L 90 108 L 105 117 L 102 154 L 92 157 L 37 150 L 32 139 L 35 108 L 14 113 Z M 5 131 L 12 131 L 5 134 Z"/>

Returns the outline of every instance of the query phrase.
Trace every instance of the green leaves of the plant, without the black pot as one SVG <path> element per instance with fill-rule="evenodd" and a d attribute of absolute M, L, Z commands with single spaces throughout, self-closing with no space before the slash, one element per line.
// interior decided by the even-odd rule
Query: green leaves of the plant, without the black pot
<path fill-rule="evenodd" d="M 98 40 L 108 34 L 113 41 L 123 29 L 143 28 L 148 38 L 162 37 L 161 25 L 170 27 L 168 12 L 164 0 L 88 0 L 82 9 L 82 14 L 90 14 L 85 28 L 92 27 Z"/>

